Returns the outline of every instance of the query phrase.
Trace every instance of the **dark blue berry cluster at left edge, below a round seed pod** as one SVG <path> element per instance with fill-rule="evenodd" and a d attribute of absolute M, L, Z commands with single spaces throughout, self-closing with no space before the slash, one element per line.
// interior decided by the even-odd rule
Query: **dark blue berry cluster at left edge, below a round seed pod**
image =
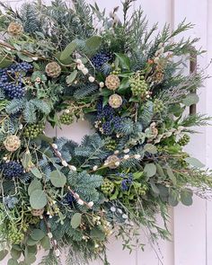
<path fill-rule="evenodd" d="M 9 161 L 0 164 L 0 171 L 7 179 L 20 178 L 24 174 L 22 163 Z"/>

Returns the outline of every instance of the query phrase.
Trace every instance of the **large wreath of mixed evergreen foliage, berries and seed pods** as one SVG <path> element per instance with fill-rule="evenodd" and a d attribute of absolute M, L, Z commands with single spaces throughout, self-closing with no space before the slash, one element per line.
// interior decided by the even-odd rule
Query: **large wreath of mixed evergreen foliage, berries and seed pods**
<path fill-rule="evenodd" d="M 110 234 L 130 251 L 138 230 L 169 238 L 168 209 L 206 197 L 210 172 L 183 149 L 209 117 L 184 110 L 199 101 L 207 77 L 197 69 L 197 39 L 174 38 L 181 22 L 157 34 L 139 8 L 123 2 L 108 17 L 97 4 L 62 0 L 4 7 L 0 25 L 0 259 L 31 264 L 109 264 Z M 52 127 L 89 120 L 95 133 L 79 145 L 48 137 Z M 71 134 L 71 132 L 70 132 Z M 163 217 L 160 227 L 156 214 Z"/>

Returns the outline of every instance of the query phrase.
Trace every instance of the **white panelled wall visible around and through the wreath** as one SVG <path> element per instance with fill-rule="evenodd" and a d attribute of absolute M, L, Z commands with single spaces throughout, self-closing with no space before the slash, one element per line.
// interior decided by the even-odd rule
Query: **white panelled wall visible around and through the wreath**
<path fill-rule="evenodd" d="M 31 0 L 32 1 L 32 0 Z M 4 1 L 11 2 L 13 6 L 18 6 L 24 1 Z M 49 2 L 49 1 L 46 1 Z M 69 2 L 69 1 L 66 1 Z M 88 2 L 93 3 L 93 0 Z M 120 0 L 96 1 L 102 8 L 106 7 L 110 11 L 114 6 L 120 5 Z M 212 57 L 212 0 L 137 0 L 134 8 L 141 4 L 150 25 L 159 22 L 162 27 L 164 22 L 176 26 L 185 17 L 188 22 L 196 24 L 193 30 L 187 32 L 187 36 L 200 37 L 199 47 L 208 49 L 208 53 L 199 57 L 199 66 L 206 67 Z M 208 75 L 212 75 L 212 66 L 209 66 Z M 198 110 L 212 115 L 212 79 L 206 82 L 206 87 L 199 92 L 200 102 Z M 80 127 L 78 127 L 80 126 Z M 80 128 L 80 130 L 79 130 Z M 51 131 L 57 136 L 70 136 L 75 140 L 80 140 L 84 134 L 90 131 L 87 124 L 81 123 L 63 131 Z M 203 163 L 212 168 L 212 128 L 202 128 L 202 134 L 193 137 L 190 144 L 190 152 L 198 157 Z M 155 246 L 156 252 L 162 257 L 164 265 L 210 265 L 212 264 L 212 203 L 196 198 L 190 208 L 179 206 L 170 210 L 172 231 L 172 242 L 159 242 Z M 143 234 L 142 234 L 143 235 Z M 109 260 L 111 265 L 157 265 L 160 264 L 151 245 L 146 242 L 146 251 L 128 252 L 121 251 L 121 243 L 111 239 L 109 244 Z M 160 254 L 161 252 L 161 254 Z M 6 264 L 2 263 L 3 265 Z M 92 265 L 101 264 L 93 262 Z M 75 264 L 73 264 L 75 265 Z"/>

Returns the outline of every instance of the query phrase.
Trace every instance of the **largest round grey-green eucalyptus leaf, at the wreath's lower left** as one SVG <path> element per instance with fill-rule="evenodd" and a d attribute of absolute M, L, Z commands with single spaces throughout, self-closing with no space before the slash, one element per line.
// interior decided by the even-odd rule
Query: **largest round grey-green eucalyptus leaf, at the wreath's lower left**
<path fill-rule="evenodd" d="M 41 209 L 47 205 L 47 196 L 44 190 L 33 190 L 30 195 L 31 208 Z"/>

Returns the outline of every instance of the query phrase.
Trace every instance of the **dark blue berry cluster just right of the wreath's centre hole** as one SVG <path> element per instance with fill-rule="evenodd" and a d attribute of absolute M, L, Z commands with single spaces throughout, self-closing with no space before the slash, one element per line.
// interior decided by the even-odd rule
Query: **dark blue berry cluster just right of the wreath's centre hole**
<path fill-rule="evenodd" d="M 109 105 L 103 107 L 102 102 L 98 102 L 96 121 L 101 121 L 103 134 L 111 135 L 113 132 L 119 131 L 119 128 L 121 128 L 122 119 Z"/>

